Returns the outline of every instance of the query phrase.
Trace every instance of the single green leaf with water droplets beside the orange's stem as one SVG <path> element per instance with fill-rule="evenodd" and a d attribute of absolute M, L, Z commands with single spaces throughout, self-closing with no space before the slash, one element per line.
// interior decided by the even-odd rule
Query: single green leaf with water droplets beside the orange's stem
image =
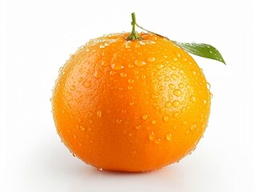
<path fill-rule="evenodd" d="M 221 53 L 213 46 L 210 46 L 205 43 L 197 44 L 195 42 L 192 42 L 192 43 L 174 42 L 174 43 L 191 54 L 195 54 L 203 58 L 211 58 L 219 62 L 223 62 L 226 65 L 226 62 L 221 56 Z"/>

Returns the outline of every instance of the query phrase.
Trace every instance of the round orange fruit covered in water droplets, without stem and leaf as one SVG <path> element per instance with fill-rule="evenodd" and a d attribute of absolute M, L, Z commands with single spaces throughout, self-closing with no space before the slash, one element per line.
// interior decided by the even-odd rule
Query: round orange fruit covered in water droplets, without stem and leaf
<path fill-rule="evenodd" d="M 209 119 L 197 63 L 156 34 L 87 42 L 59 72 L 52 112 L 60 138 L 100 170 L 160 169 L 193 151 Z"/>

